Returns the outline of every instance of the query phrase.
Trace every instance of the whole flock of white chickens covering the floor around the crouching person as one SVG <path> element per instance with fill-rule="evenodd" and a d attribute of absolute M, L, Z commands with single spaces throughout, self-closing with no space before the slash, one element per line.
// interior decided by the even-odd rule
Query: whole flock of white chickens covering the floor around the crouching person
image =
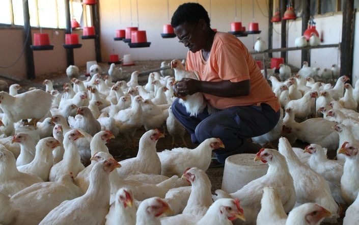
<path fill-rule="evenodd" d="M 205 171 L 212 150 L 225 147 L 220 139 L 156 150 L 163 137 L 157 128 L 164 126 L 172 147 L 176 136 L 185 145 L 185 129 L 171 111 L 172 86 L 198 77 L 180 60 L 170 64 L 174 70 L 151 73 L 144 86 L 138 71 L 128 82 L 113 83 L 124 78 L 121 69 L 112 65 L 101 76 L 94 65 L 86 81 L 70 66 L 72 85 L 65 83 L 62 93 L 49 80 L 46 91 L 18 94 L 14 84 L 0 92 L 0 224 L 309 225 L 336 222 L 339 205 L 350 204 L 343 224 L 359 222 L 358 82 L 355 89 L 345 76 L 334 87 L 314 82 L 308 65 L 285 81 L 270 77 L 286 114 L 281 109 L 278 125 L 253 141 L 265 145 L 283 136 L 279 151 L 257 153 L 254 160 L 269 165 L 263 177 L 212 195 Z M 179 102 L 192 115 L 215 112 L 202 94 Z M 307 119 L 315 111 L 323 118 Z M 122 135 L 135 148 L 134 133 L 142 127 L 137 156 L 117 162 L 106 143 Z M 296 139 L 312 144 L 292 148 Z M 337 149 L 338 160 L 328 160 L 326 151 Z"/>

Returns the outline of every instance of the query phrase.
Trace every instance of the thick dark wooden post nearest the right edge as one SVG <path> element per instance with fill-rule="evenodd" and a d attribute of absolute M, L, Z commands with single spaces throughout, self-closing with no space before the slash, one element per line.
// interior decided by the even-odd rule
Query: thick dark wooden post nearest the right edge
<path fill-rule="evenodd" d="M 340 74 L 352 81 L 354 48 L 354 0 L 343 0 L 342 43 L 340 54 Z"/>

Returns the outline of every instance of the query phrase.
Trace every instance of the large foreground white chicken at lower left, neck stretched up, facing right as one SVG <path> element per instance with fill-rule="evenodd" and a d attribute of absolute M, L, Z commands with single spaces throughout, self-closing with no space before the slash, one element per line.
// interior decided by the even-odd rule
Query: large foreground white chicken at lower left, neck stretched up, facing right
<path fill-rule="evenodd" d="M 73 224 L 75 218 L 78 224 L 103 224 L 109 209 L 108 174 L 120 166 L 114 159 L 96 163 L 90 173 L 87 192 L 51 210 L 39 225 L 68 225 Z"/>

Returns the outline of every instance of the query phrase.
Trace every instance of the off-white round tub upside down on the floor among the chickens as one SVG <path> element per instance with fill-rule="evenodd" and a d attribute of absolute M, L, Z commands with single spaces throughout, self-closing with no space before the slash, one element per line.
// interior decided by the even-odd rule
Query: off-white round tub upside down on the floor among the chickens
<path fill-rule="evenodd" d="M 222 190 L 233 193 L 267 173 L 268 164 L 254 162 L 256 154 L 237 154 L 226 159 Z"/>

